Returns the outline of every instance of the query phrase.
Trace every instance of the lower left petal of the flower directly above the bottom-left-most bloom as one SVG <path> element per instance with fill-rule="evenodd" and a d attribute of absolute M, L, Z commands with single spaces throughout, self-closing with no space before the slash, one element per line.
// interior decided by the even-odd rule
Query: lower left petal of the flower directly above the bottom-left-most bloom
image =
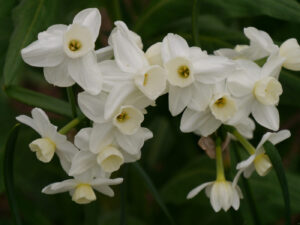
<path fill-rule="evenodd" d="M 72 160 L 72 166 L 69 171 L 70 176 L 84 173 L 96 165 L 96 155 L 89 151 L 79 151 Z"/>

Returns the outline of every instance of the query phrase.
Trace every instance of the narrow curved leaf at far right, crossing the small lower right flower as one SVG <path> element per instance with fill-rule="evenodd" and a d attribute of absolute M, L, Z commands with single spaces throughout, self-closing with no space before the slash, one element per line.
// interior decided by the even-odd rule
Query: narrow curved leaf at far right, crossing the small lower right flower
<path fill-rule="evenodd" d="M 287 179 L 285 176 L 284 168 L 282 165 L 281 157 L 275 148 L 275 146 L 267 141 L 264 144 L 264 149 L 266 150 L 267 155 L 269 156 L 272 165 L 275 169 L 276 175 L 278 177 L 283 198 L 284 198 L 284 203 L 285 203 L 285 217 L 286 217 L 286 224 L 289 225 L 291 224 L 291 206 L 290 206 L 290 195 L 289 195 L 289 189 L 288 189 L 288 184 L 287 184 Z"/>

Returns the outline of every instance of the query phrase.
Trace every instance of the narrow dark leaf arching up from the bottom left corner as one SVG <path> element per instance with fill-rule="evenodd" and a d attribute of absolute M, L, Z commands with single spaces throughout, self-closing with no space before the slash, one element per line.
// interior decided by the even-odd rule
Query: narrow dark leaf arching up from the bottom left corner
<path fill-rule="evenodd" d="M 14 176 L 13 176 L 13 159 L 16 146 L 16 140 L 18 137 L 20 124 L 15 125 L 9 132 L 5 148 L 4 148 L 4 163 L 3 163 L 3 176 L 4 185 L 10 209 L 16 225 L 21 225 L 21 217 L 17 206 L 16 195 L 14 191 Z"/>

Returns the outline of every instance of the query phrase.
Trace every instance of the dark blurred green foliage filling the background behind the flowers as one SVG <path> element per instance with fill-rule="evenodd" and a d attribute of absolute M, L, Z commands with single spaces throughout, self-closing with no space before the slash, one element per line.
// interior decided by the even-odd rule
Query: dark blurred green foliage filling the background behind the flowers
<path fill-rule="evenodd" d="M 68 24 L 78 11 L 97 7 L 102 14 L 97 47 L 107 44 L 116 19 L 124 20 L 142 36 L 144 49 L 161 41 L 168 32 L 182 35 L 193 45 L 193 24 L 198 29 L 200 47 L 210 53 L 221 47 L 247 43 L 243 35 L 247 26 L 265 30 L 279 44 L 291 37 L 300 40 L 300 4 L 296 0 L 198 0 L 194 23 L 192 0 L 0 0 L 0 6 L 0 66 L 3 68 L 0 72 L 0 225 L 12 224 L 2 177 L 4 142 L 15 116 L 31 109 L 20 101 L 48 110 L 51 120 L 59 127 L 71 116 L 66 91 L 48 85 L 41 69 L 29 67 L 21 60 L 20 49 L 35 40 L 38 32 L 52 24 Z M 286 169 L 293 224 L 300 222 L 299 75 L 299 72 L 283 71 L 280 76 L 284 89 L 279 105 L 281 128 L 290 129 L 292 137 L 279 144 L 278 150 Z M 255 224 L 247 197 L 241 201 L 238 212 L 227 213 L 214 213 L 204 193 L 186 200 L 189 190 L 214 179 L 215 165 L 198 147 L 198 137 L 179 131 L 179 121 L 180 116 L 172 118 L 169 114 L 167 97 L 159 98 L 157 107 L 149 109 L 144 122 L 153 131 L 154 138 L 145 144 L 139 162 L 158 188 L 176 224 Z M 125 191 L 120 192 L 120 186 L 114 187 L 115 198 L 98 195 L 97 202 L 81 206 L 74 204 L 67 193 L 42 194 L 45 185 L 63 180 L 66 175 L 57 159 L 47 165 L 37 161 L 28 149 L 37 135 L 24 126 L 20 131 L 15 152 L 15 185 L 24 224 L 114 225 L 120 224 L 121 209 L 125 224 L 169 224 L 133 165 L 127 166 L 127 182 L 121 186 Z M 261 127 L 256 129 L 255 145 L 264 132 Z M 228 176 L 232 177 L 236 159 L 231 154 L 226 160 Z M 120 171 L 115 176 L 122 174 Z M 253 175 L 249 186 L 262 224 L 283 224 L 284 202 L 274 171 L 266 177 Z"/>

